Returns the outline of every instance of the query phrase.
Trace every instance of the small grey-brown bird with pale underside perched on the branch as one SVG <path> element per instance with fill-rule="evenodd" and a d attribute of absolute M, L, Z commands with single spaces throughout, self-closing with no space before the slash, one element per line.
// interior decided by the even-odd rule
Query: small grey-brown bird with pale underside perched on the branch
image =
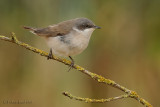
<path fill-rule="evenodd" d="M 74 66 L 74 60 L 71 56 L 83 52 L 88 46 L 93 31 L 101 27 L 96 26 L 90 19 L 81 17 L 44 28 L 28 26 L 23 26 L 23 28 L 45 39 L 50 48 L 47 59 L 53 59 L 52 53 L 69 57 L 71 59 L 71 69 Z"/>

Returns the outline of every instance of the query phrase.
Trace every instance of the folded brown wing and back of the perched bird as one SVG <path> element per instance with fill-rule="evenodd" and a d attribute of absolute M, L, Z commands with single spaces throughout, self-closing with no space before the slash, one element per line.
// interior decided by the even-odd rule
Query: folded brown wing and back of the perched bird
<path fill-rule="evenodd" d="M 73 23 L 70 23 L 70 21 L 65 21 L 46 28 L 34 29 L 33 32 L 42 37 L 63 36 L 65 34 L 68 34 L 70 30 L 72 30 L 72 26 Z"/>

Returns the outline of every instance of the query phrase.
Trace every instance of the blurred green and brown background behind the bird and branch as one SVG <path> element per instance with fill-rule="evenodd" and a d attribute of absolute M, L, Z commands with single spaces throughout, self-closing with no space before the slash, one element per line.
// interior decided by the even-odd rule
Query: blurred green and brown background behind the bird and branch
<path fill-rule="evenodd" d="M 88 48 L 74 57 L 91 72 L 135 90 L 160 107 L 160 0 L 0 0 L 0 34 L 49 51 L 45 41 L 22 29 L 45 27 L 77 17 L 101 26 Z M 123 92 L 99 84 L 57 61 L 47 60 L 15 44 L 0 40 L 0 107 L 143 107 L 134 99 L 95 104 L 70 100 L 109 98 Z M 27 100 L 31 104 L 4 104 Z"/>

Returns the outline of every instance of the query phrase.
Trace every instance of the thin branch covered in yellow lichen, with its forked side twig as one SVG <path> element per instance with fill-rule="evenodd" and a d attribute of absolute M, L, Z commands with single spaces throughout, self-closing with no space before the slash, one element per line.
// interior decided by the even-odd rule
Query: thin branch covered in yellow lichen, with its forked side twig
<path fill-rule="evenodd" d="M 21 41 L 19 41 L 17 38 L 16 38 L 16 35 L 15 33 L 12 33 L 11 37 L 6 37 L 6 36 L 3 36 L 3 35 L 0 35 L 0 39 L 1 40 L 4 40 L 4 41 L 8 41 L 8 42 L 12 42 L 12 43 L 15 43 L 19 46 L 22 46 L 30 51 L 33 51 L 35 53 L 38 53 L 40 54 L 41 56 L 45 56 L 45 57 L 48 57 L 48 53 L 47 52 L 44 52 L 40 49 L 37 49 L 37 48 L 34 48 L 26 43 L 23 43 Z M 53 60 L 56 60 L 58 62 L 61 62 L 65 65 L 69 65 L 71 64 L 71 61 L 67 60 L 67 59 L 63 59 L 63 58 L 59 58 L 59 57 L 56 57 L 55 55 L 53 55 Z M 88 75 L 89 77 L 91 77 L 92 79 L 98 81 L 99 83 L 104 83 L 104 84 L 107 84 L 107 85 L 110 85 L 114 88 L 117 88 L 123 92 L 125 92 L 126 94 L 124 95 L 121 95 L 121 96 L 118 96 L 118 97 L 113 97 L 113 98 L 108 98 L 108 99 L 89 99 L 89 98 L 81 98 L 81 97 L 76 97 L 76 96 L 73 96 L 71 94 L 69 94 L 68 92 L 64 92 L 63 94 L 71 99 L 75 99 L 75 100 L 79 100 L 79 101 L 84 101 L 84 102 L 91 102 L 91 103 L 104 103 L 104 102 L 109 102 L 109 101 L 113 101 L 113 100 L 118 100 L 118 99 L 122 99 L 122 98 L 133 98 L 133 99 L 136 99 L 137 101 L 139 101 L 141 104 L 143 104 L 145 107 L 152 107 L 152 105 L 150 103 L 148 103 L 146 100 L 144 100 L 143 98 L 141 98 L 135 91 L 132 91 L 132 90 L 129 90 L 121 85 L 119 85 L 118 83 L 114 82 L 113 80 L 110 80 L 110 79 L 106 79 L 100 75 L 97 75 L 95 73 L 92 73 L 86 69 L 84 69 L 83 67 L 79 66 L 79 65 L 74 65 L 73 66 L 74 69 Z"/>

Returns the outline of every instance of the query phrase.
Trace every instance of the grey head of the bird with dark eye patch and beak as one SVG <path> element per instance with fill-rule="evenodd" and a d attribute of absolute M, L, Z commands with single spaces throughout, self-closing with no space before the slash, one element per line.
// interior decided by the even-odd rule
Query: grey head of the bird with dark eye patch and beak
<path fill-rule="evenodd" d="M 100 29 L 99 26 L 96 26 L 91 20 L 87 19 L 87 18 L 76 18 L 74 19 L 75 24 L 74 26 L 78 29 L 78 30 L 85 30 L 85 29 L 90 29 L 90 28 L 94 28 L 94 29 Z"/>

